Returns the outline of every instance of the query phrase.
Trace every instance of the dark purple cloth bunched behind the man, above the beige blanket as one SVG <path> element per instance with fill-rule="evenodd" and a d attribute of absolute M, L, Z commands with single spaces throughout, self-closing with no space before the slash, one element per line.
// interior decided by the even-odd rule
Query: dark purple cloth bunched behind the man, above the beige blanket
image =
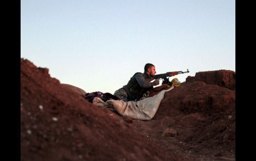
<path fill-rule="evenodd" d="M 86 93 L 83 97 L 86 100 L 88 100 L 89 102 L 92 102 L 92 100 L 95 97 L 102 99 L 102 101 L 104 101 L 104 102 L 106 102 L 107 100 L 120 100 L 118 97 L 116 97 L 110 93 L 102 93 L 102 92 Z"/>

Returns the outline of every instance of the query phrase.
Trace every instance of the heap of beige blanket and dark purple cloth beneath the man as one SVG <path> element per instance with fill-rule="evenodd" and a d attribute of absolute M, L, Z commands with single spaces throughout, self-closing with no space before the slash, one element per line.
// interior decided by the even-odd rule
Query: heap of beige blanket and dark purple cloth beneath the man
<path fill-rule="evenodd" d="M 102 92 L 86 93 L 84 97 L 94 105 L 115 111 L 121 116 L 148 121 L 155 116 L 165 93 L 172 89 L 174 89 L 173 86 L 168 90 L 162 90 L 153 97 L 147 97 L 140 101 L 124 102 L 110 93 Z"/>

